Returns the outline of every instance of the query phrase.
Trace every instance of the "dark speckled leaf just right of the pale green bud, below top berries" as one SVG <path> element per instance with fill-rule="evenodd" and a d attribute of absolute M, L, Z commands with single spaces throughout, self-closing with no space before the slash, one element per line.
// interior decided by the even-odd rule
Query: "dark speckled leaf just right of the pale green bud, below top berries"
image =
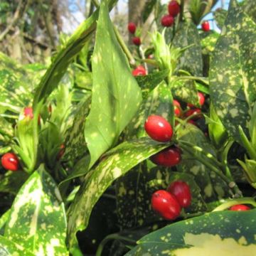
<path fill-rule="evenodd" d="M 186 48 L 179 60 L 178 69 L 187 70 L 192 75 L 202 75 L 203 58 L 201 42 L 198 29 L 193 23 L 181 23 L 181 27 L 174 36 L 172 45 L 179 48 Z"/>

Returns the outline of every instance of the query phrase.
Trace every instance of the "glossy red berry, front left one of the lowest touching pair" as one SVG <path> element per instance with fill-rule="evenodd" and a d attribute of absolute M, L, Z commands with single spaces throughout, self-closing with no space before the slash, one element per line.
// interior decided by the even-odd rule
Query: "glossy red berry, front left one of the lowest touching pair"
<path fill-rule="evenodd" d="M 152 195 L 151 206 L 166 220 L 175 220 L 181 213 L 181 206 L 175 196 L 164 190 L 156 191 Z"/>

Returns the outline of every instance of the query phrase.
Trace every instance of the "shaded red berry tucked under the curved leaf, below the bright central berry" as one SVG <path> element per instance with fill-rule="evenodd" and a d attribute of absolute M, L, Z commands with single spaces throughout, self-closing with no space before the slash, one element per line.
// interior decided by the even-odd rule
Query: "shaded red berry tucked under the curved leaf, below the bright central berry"
<path fill-rule="evenodd" d="M 176 147 L 164 149 L 151 156 L 150 160 L 159 166 L 176 166 L 181 161 L 181 150 Z"/>

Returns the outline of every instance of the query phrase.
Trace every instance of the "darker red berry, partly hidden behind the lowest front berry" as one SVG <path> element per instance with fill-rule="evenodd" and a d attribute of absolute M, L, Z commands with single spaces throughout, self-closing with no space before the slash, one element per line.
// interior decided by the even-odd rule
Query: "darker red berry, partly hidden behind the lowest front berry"
<path fill-rule="evenodd" d="M 186 208 L 191 205 L 191 191 L 186 182 L 174 181 L 167 188 L 167 191 L 176 197 L 181 207 Z"/>

